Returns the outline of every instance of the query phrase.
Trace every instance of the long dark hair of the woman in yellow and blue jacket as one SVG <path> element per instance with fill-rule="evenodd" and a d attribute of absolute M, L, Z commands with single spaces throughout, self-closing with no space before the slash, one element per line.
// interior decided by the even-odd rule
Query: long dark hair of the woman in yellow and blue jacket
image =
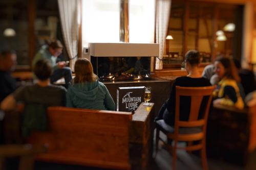
<path fill-rule="evenodd" d="M 236 65 L 234 64 L 233 59 L 229 57 L 219 56 L 215 61 L 219 61 L 225 68 L 225 76 L 229 79 L 236 80 L 240 82 L 240 77 L 238 75 L 238 70 Z"/>

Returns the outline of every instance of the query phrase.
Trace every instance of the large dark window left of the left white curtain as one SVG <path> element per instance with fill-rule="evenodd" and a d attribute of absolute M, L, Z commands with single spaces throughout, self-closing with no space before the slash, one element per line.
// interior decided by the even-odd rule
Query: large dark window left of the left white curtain
<path fill-rule="evenodd" d="M 10 28 L 15 34 L 4 34 Z M 63 43 L 57 0 L 0 1 L 0 51 L 15 50 L 18 69 L 30 69 L 35 53 L 50 38 Z M 62 60 L 67 58 L 64 47 Z"/>

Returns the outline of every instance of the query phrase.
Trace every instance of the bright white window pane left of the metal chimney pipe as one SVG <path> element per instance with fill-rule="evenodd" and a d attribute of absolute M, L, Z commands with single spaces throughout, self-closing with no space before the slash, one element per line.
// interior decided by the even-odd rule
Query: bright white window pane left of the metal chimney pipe
<path fill-rule="evenodd" d="M 82 46 L 119 42 L 119 0 L 82 1 Z"/>

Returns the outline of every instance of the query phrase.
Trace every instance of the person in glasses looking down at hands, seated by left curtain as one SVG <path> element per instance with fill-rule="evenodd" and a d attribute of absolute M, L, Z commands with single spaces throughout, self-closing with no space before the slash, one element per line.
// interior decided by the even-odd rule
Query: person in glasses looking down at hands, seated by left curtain
<path fill-rule="evenodd" d="M 69 82 L 72 80 L 72 71 L 70 67 L 66 67 L 65 61 L 56 63 L 57 57 L 62 53 L 63 45 L 59 40 L 49 42 L 48 45 L 43 45 L 40 50 L 36 53 L 32 66 L 38 60 L 46 59 L 51 62 L 53 68 L 53 74 L 51 75 L 51 83 L 56 82 L 62 77 L 65 78 L 65 87 L 68 87 Z"/>

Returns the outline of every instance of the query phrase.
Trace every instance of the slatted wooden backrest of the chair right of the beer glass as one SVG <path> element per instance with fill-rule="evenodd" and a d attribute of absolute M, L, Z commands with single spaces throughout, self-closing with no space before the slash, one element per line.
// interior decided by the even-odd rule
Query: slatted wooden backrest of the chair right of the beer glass
<path fill-rule="evenodd" d="M 206 87 L 180 87 L 176 86 L 176 112 L 175 112 L 175 126 L 178 127 L 200 127 L 204 126 L 207 120 L 209 107 L 212 99 L 212 91 L 214 91 L 215 86 Z M 190 96 L 190 113 L 188 121 L 180 121 L 180 96 Z M 204 96 L 209 96 L 207 105 L 204 110 L 203 119 L 198 120 L 198 115 L 200 111 L 200 106 L 203 101 Z"/>

